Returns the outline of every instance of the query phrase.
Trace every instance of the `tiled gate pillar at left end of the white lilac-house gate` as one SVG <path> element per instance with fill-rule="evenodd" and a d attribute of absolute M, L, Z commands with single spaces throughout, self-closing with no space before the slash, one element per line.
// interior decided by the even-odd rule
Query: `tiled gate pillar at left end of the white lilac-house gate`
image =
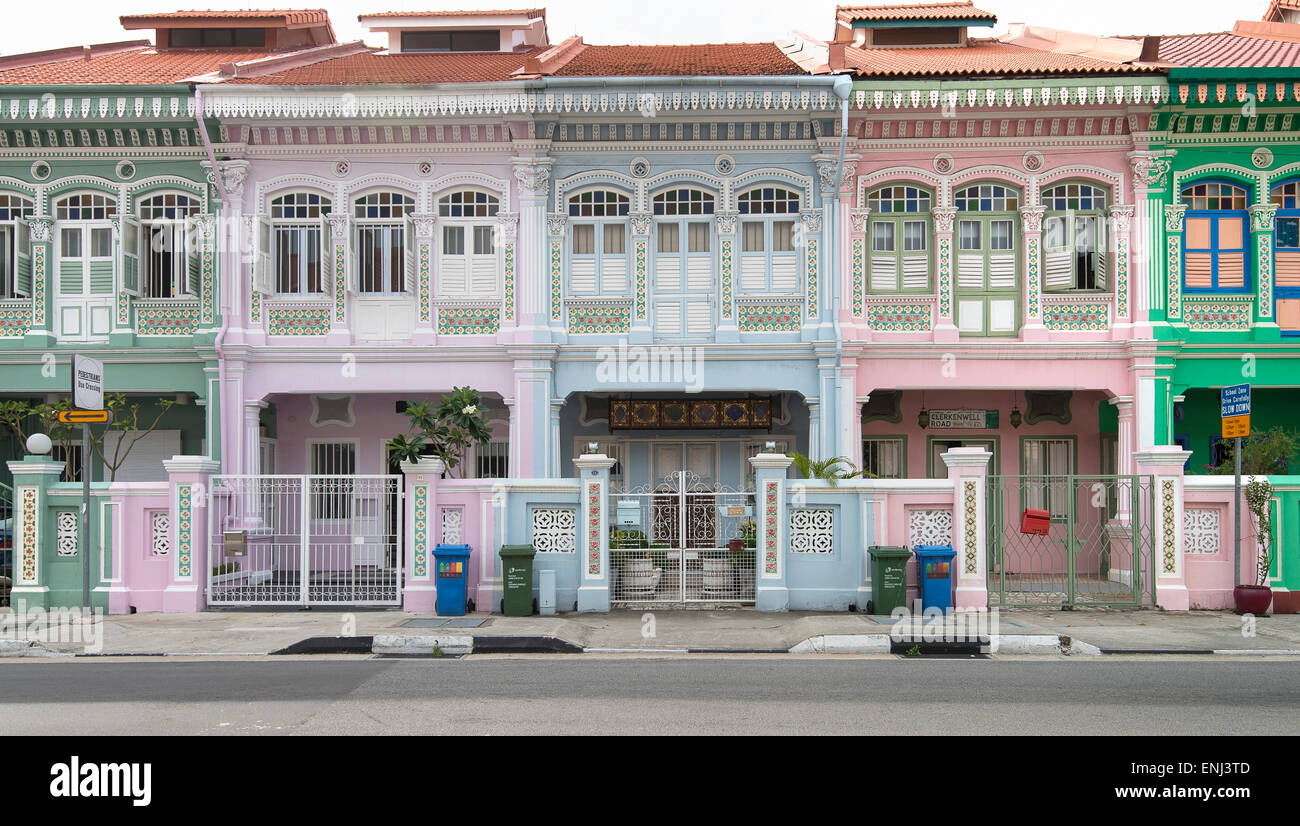
<path fill-rule="evenodd" d="M 172 576 L 162 592 L 168 614 L 202 611 L 211 574 L 208 516 L 212 475 L 220 463 L 207 457 L 172 457 L 162 462 L 172 501 Z"/>

